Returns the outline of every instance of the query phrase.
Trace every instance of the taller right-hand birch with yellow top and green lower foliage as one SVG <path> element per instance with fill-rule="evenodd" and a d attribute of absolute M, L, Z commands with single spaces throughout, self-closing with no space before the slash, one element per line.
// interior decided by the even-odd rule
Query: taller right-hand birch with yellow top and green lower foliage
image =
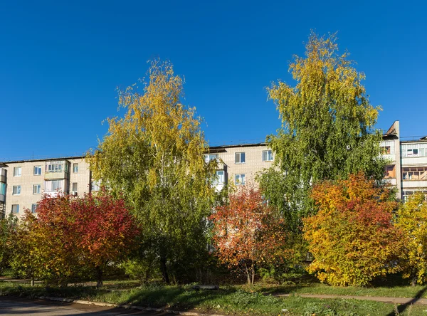
<path fill-rule="evenodd" d="M 379 107 L 373 107 L 348 53 L 339 55 L 336 37 L 311 34 L 305 58 L 295 56 L 290 73 L 294 87 L 278 81 L 268 88 L 282 120 L 278 135 L 267 141 L 275 166 L 261 175 L 260 185 L 278 206 L 292 231 L 301 218 L 315 213 L 312 184 L 364 171 L 380 180 L 381 134 L 374 130 Z"/>

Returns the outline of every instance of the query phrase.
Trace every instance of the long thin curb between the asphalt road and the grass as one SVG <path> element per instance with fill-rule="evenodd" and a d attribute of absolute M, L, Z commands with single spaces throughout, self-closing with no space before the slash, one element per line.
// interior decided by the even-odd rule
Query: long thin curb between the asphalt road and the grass
<path fill-rule="evenodd" d="M 175 315 L 225 316 L 225 315 L 219 315 L 219 314 L 204 314 L 199 312 L 180 312 L 179 310 L 164 310 L 162 308 L 143 307 L 143 306 L 136 306 L 136 305 L 130 305 L 130 304 L 112 304 L 107 302 L 92 302 L 89 300 L 73 300 L 72 298 L 63 298 L 63 297 L 39 296 L 38 298 L 41 300 L 54 300 L 58 302 L 74 302 L 77 304 L 95 305 L 95 306 L 103 306 L 103 307 L 122 307 L 130 310 L 147 310 L 148 312 L 167 312 L 169 314 L 175 314 Z"/>

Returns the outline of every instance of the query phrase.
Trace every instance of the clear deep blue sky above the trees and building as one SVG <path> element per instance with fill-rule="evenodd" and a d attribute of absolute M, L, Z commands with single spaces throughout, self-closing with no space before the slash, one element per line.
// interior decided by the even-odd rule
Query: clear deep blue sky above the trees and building
<path fill-rule="evenodd" d="M 211 145 L 263 141 L 280 127 L 265 87 L 291 82 L 310 29 L 338 31 L 384 108 L 378 128 L 427 135 L 426 13 L 422 1 L 1 1 L 0 161 L 96 147 L 115 88 L 157 57 L 185 76 Z"/>

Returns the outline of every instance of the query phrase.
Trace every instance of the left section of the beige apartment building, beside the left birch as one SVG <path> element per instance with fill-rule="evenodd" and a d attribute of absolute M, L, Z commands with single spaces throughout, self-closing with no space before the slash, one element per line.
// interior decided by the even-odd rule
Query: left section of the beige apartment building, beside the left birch
<path fill-rule="evenodd" d="M 36 212 L 43 194 L 54 196 L 58 191 L 64 191 L 83 195 L 93 189 L 89 165 L 84 157 L 4 162 L 0 172 L 1 216 L 10 213 L 22 216 L 24 209 Z"/>

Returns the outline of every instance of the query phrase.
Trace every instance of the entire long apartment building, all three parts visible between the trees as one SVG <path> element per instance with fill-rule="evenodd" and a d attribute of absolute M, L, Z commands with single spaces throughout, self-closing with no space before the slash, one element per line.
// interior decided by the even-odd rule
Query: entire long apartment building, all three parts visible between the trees
<path fill-rule="evenodd" d="M 404 201 L 415 191 L 427 194 L 427 137 L 402 141 L 399 121 L 384 133 L 381 152 L 389 164 L 384 179 L 396 186 Z M 214 146 L 205 154 L 206 162 L 218 161 L 216 189 L 227 183 L 255 184 L 256 174 L 273 164 L 273 152 L 265 143 Z M 97 191 L 84 157 L 31 159 L 0 163 L 0 218 L 9 213 L 36 212 L 43 194 L 58 191 L 83 195 Z"/>

